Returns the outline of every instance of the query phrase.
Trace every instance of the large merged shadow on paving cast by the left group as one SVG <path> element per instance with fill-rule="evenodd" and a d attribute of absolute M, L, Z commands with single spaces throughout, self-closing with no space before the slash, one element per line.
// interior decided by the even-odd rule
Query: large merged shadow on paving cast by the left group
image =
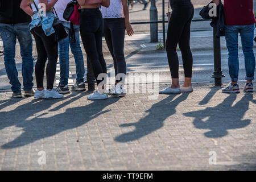
<path fill-rule="evenodd" d="M 49 109 L 49 107 L 51 107 L 52 104 L 55 104 L 56 101 L 49 100 L 47 102 L 47 100 L 32 100 L 27 104 L 18 106 L 13 111 L 1 112 L 0 117 L 5 115 L 5 117 L 8 118 L 12 117 L 15 114 L 17 115 L 17 110 L 19 112 L 22 110 L 28 111 L 27 114 L 25 114 L 25 112 L 24 114 L 20 114 L 19 119 L 15 119 L 15 117 L 13 118 L 13 122 L 8 121 L 10 122 L 9 126 L 20 127 L 23 130 L 23 133 L 14 140 L 3 144 L 1 148 L 8 149 L 25 146 L 27 144 L 35 142 L 36 140 L 51 137 L 53 135 L 61 133 L 62 131 L 74 129 L 76 127 L 84 125 L 85 123 L 98 117 L 98 115 L 110 111 L 104 110 L 104 108 L 119 100 L 119 98 L 110 98 L 109 100 L 104 101 L 93 101 L 88 105 L 68 108 L 64 112 L 57 111 L 57 109 L 61 109 L 61 107 L 71 104 L 71 102 L 73 102 L 74 100 L 78 100 L 82 96 L 85 95 L 80 94 L 80 96 L 77 96 L 77 98 L 72 98 L 73 100 L 64 102 L 59 107 L 57 106 L 54 109 L 49 110 L 49 113 L 43 113 L 37 115 L 36 117 L 36 113 Z M 51 111 L 57 111 L 57 113 L 59 114 L 54 115 L 53 113 L 51 113 Z"/>

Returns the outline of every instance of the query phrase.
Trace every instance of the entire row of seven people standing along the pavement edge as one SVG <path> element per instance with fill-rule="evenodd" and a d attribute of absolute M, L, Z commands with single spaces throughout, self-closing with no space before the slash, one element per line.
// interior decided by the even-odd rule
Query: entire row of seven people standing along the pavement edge
<path fill-rule="evenodd" d="M 18 38 L 20 55 L 22 56 L 22 76 L 24 96 L 35 98 L 63 98 L 69 93 L 69 47 L 75 57 L 76 84 L 73 90 L 85 90 L 84 57 L 80 47 L 80 35 L 86 55 L 92 64 L 98 89 L 88 96 L 88 100 L 108 98 L 109 94 L 125 96 L 124 88 L 126 61 L 124 56 L 125 31 L 129 36 L 134 31 L 129 20 L 127 0 L 78 0 L 80 5 L 80 26 L 63 19 L 65 7 L 70 0 L 0 0 L 0 34 L 3 39 L 5 67 L 10 80 L 13 97 L 22 97 L 21 84 L 15 66 L 15 44 Z M 220 0 L 213 0 L 216 5 Z M 46 10 L 45 16 L 40 16 L 38 8 L 42 4 Z M 190 28 L 194 14 L 191 0 L 171 0 L 172 14 L 168 24 L 166 51 L 172 76 L 172 84 L 160 90 L 160 94 L 176 94 L 192 92 L 193 57 L 190 48 Z M 53 11 L 53 7 L 55 11 Z M 226 44 L 229 50 L 229 72 L 232 82 L 222 92 L 240 92 L 238 81 L 238 33 L 241 34 L 243 53 L 245 55 L 246 92 L 253 91 L 255 57 L 253 52 L 254 13 L 253 0 L 224 0 Z M 31 19 L 32 16 L 32 19 Z M 62 23 L 68 37 L 60 42 L 55 39 L 52 26 Z M 73 28 L 71 28 L 73 26 Z M 75 42 L 72 41 L 75 30 Z M 109 51 L 113 57 L 115 68 L 115 83 L 106 90 L 106 63 L 102 53 L 102 34 L 104 33 Z M 32 56 L 32 36 L 35 38 L 38 59 L 35 64 L 36 87 L 33 87 L 32 73 L 34 58 Z M 183 59 L 185 80 L 179 84 L 179 59 L 176 48 L 179 44 Z M 60 83 L 53 88 L 56 64 L 59 55 Z M 47 87 L 44 89 L 44 69 L 46 61 Z"/>

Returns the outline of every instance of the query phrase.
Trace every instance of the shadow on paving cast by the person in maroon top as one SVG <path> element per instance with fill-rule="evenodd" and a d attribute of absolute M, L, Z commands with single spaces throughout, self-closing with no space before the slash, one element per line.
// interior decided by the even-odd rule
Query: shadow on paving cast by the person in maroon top
<path fill-rule="evenodd" d="M 249 109 L 253 94 L 245 94 L 240 101 L 236 101 L 237 94 L 230 94 L 225 100 L 215 107 L 207 107 L 199 111 L 184 113 L 186 117 L 193 117 L 193 125 L 197 129 L 210 130 L 204 135 L 208 138 L 220 138 L 228 135 L 228 130 L 241 129 L 251 123 L 250 119 L 243 119 Z M 233 105 L 233 106 L 232 106 Z"/>

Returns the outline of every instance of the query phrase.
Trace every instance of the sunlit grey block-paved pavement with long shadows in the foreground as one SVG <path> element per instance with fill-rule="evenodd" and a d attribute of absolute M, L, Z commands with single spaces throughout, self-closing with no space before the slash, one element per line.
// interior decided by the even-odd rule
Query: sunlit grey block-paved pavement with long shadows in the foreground
<path fill-rule="evenodd" d="M 63 100 L 1 92 L 0 170 L 256 169 L 255 92 L 194 88 L 156 100 L 133 85 L 104 101 L 86 100 L 88 92 Z"/>

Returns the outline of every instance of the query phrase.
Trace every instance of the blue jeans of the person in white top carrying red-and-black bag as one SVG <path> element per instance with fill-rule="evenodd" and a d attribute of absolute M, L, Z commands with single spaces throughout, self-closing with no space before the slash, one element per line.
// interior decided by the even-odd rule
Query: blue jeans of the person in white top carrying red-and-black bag
<path fill-rule="evenodd" d="M 61 21 L 68 32 L 68 37 L 59 42 L 59 58 L 60 58 L 60 85 L 68 85 L 69 77 L 69 45 L 75 58 L 76 63 L 76 82 L 84 81 L 84 56 L 80 46 L 79 26 L 74 25 L 76 42 L 71 42 L 71 23 Z"/>

